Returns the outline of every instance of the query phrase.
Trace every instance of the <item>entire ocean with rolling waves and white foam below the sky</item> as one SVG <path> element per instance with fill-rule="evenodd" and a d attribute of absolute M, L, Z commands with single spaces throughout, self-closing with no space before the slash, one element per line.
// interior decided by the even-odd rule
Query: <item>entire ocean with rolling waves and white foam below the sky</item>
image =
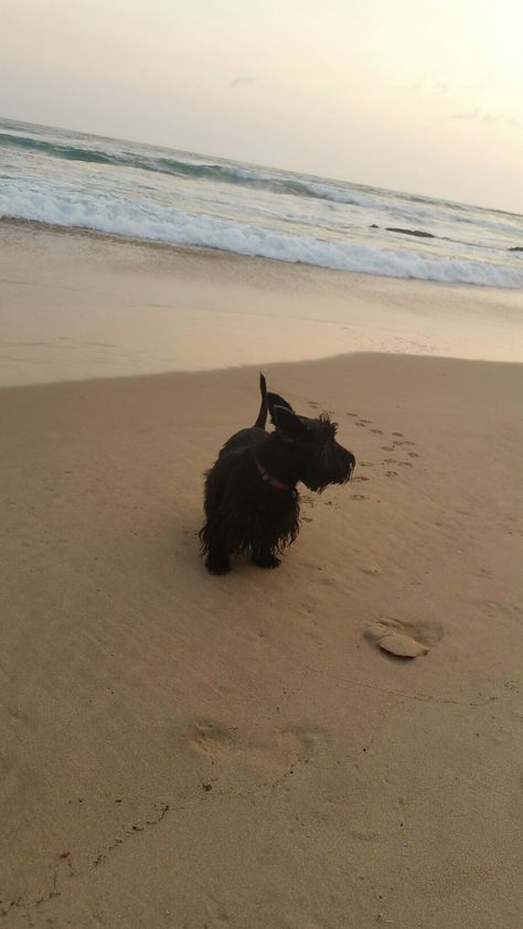
<path fill-rule="evenodd" d="M 523 287 L 514 250 L 523 218 L 514 214 L 8 120 L 0 151 L 0 216 L 339 270 Z"/>

